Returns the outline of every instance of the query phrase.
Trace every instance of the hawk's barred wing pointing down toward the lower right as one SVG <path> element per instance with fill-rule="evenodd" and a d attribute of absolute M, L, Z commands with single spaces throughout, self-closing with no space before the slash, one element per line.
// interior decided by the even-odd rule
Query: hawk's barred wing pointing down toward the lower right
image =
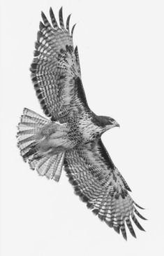
<path fill-rule="evenodd" d="M 135 215 L 146 220 L 138 213 L 128 191 L 131 189 L 114 166 L 103 142 L 99 139 L 85 144 L 72 151 L 66 151 L 64 166 L 70 182 L 82 201 L 104 220 L 115 231 L 121 233 L 126 239 L 127 225 L 131 234 L 135 236 L 131 219 L 140 230 L 144 229 L 137 221 Z M 141 208 L 140 206 L 137 206 Z"/>

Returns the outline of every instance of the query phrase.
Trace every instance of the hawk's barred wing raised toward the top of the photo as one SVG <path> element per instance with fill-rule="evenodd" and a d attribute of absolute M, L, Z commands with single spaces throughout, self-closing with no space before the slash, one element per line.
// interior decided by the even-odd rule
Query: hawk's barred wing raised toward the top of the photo
<path fill-rule="evenodd" d="M 61 120 L 68 114 L 82 112 L 87 100 L 82 87 L 77 47 L 73 48 L 73 26 L 69 31 L 70 15 L 64 26 L 62 8 L 59 25 L 50 8 L 52 24 L 42 13 L 36 50 L 31 64 L 31 78 L 40 105 L 52 121 Z"/>

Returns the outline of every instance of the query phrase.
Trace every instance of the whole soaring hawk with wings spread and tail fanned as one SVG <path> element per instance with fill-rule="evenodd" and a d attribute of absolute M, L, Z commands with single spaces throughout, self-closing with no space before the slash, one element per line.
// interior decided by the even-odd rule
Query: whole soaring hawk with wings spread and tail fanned
<path fill-rule="evenodd" d="M 18 124 L 17 146 L 25 162 L 39 175 L 59 182 L 62 169 L 87 207 L 100 220 L 121 230 L 126 226 L 135 236 L 131 220 L 143 230 L 136 215 L 140 206 L 133 201 L 131 189 L 114 166 L 101 135 L 119 126 L 108 116 L 91 111 L 82 86 L 77 46 L 73 46 L 70 15 L 64 25 L 62 8 L 59 25 L 50 8 L 50 20 L 42 13 L 31 79 L 40 105 L 49 119 L 24 108 Z M 136 208 L 137 207 L 137 208 Z"/>

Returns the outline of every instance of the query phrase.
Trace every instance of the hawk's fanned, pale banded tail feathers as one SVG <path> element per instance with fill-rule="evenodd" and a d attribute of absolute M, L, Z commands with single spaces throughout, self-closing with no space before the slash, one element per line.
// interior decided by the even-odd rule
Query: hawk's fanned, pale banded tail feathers
<path fill-rule="evenodd" d="M 20 148 L 22 158 L 25 162 L 28 161 L 31 169 L 37 170 L 39 175 L 45 175 L 48 179 L 59 181 L 65 152 L 40 155 L 36 147 L 38 143 L 36 134 L 47 123 L 50 121 L 25 108 L 18 124 L 17 146 Z"/>

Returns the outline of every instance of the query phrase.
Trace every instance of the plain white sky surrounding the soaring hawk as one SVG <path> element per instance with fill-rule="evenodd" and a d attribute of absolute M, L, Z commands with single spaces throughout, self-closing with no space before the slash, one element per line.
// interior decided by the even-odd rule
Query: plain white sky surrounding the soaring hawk
<path fill-rule="evenodd" d="M 23 107 L 43 114 L 30 79 L 40 11 L 77 22 L 89 107 L 121 128 L 103 135 L 148 221 L 128 241 L 73 193 L 29 169 L 16 147 Z M 1 255 L 163 255 L 163 1 L 1 0 Z M 135 224 L 134 224 L 135 226 Z"/>

